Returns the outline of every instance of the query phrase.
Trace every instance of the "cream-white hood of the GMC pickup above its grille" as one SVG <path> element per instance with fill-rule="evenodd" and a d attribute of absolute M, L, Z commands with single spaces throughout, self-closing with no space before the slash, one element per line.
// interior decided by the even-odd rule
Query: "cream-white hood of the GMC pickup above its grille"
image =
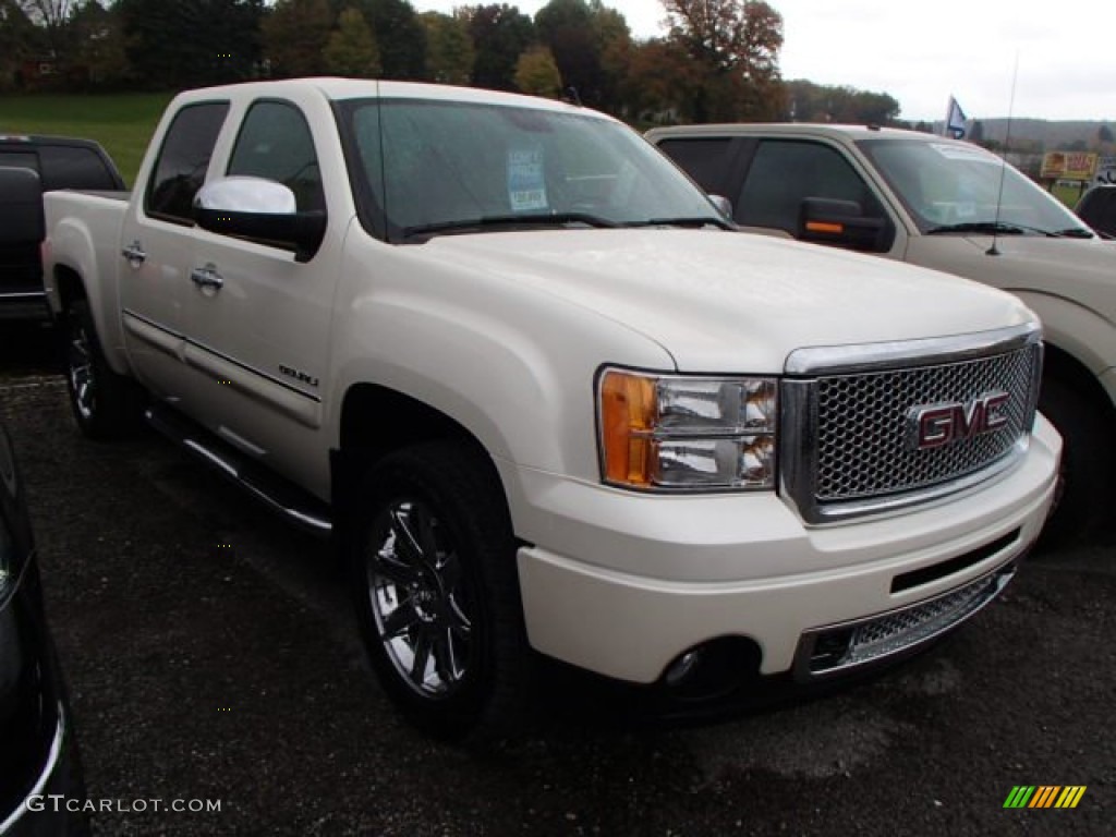
<path fill-rule="evenodd" d="M 421 251 L 446 270 L 483 271 L 610 318 L 660 344 L 686 372 L 776 373 L 808 346 L 944 337 L 1035 319 L 1014 298 L 973 282 L 747 233 L 444 235 Z"/>

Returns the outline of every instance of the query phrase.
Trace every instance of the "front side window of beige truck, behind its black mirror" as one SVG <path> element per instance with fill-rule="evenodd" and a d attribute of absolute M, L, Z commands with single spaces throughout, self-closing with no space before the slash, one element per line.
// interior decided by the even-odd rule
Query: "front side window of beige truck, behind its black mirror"
<path fill-rule="evenodd" d="M 884 215 L 883 206 L 840 152 L 819 143 L 768 140 L 760 143 L 741 186 L 737 223 L 795 234 L 806 198 L 855 201 L 865 215 Z"/>

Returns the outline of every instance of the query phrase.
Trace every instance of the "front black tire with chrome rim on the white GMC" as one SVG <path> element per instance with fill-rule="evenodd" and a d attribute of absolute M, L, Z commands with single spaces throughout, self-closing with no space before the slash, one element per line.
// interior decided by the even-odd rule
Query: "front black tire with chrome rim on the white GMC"
<path fill-rule="evenodd" d="M 369 469 L 350 508 L 349 587 L 384 691 L 436 738 L 513 734 L 529 651 L 491 461 L 460 441 L 407 448 Z"/>

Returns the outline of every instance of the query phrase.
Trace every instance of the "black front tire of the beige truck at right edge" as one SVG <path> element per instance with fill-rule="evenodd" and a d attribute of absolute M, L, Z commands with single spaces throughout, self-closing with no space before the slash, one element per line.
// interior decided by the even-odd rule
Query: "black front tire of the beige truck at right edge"
<path fill-rule="evenodd" d="M 1116 450 L 1106 406 L 1072 382 L 1042 381 L 1039 411 L 1062 437 L 1060 499 L 1043 529 L 1046 546 L 1113 540 Z"/>

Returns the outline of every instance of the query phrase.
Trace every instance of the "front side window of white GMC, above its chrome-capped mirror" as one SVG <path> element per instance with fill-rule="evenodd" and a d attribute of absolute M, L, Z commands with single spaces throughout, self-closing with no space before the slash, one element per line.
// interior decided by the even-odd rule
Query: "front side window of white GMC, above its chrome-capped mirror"
<path fill-rule="evenodd" d="M 286 102 L 257 102 L 237 137 L 230 175 L 278 181 L 295 193 L 299 212 L 325 210 L 321 171 L 302 113 Z"/>

